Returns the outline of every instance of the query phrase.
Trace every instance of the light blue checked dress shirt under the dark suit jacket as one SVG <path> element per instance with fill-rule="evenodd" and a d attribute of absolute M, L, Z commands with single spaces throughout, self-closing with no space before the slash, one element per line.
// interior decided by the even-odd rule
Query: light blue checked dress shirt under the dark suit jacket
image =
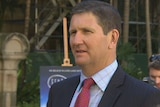
<path fill-rule="evenodd" d="M 105 89 L 107 88 L 108 83 L 109 83 L 110 79 L 112 78 L 112 75 L 116 71 L 117 67 L 118 67 L 118 62 L 117 62 L 117 60 L 115 60 L 112 64 L 110 64 L 109 66 L 107 66 L 106 68 L 104 68 L 103 70 L 99 71 L 98 73 L 96 73 L 95 75 L 92 76 L 96 85 L 92 86 L 90 89 L 91 97 L 90 97 L 89 107 L 97 107 L 98 106 L 98 104 L 103 96 L 103 93 L 104 93 Z M 82 83 L 83 83 L 84 79 L 86 79 L 86 78 L 87 77 L 85 77 L 85 75 L 83 73 L 81 73 L 80 83 L 74 93 L 70 107 L 74 107 L 76 99 L 77 99 L 79 93 L 81 92 Z"/>

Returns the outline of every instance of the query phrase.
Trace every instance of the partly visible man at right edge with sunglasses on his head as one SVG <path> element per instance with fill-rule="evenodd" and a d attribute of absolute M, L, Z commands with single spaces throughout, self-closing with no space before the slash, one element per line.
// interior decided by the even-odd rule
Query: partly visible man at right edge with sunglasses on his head
<path fill-rule="evenodd" d="M 149 64 L 149 77 L 153 85 L 160 89 L 160 55 L 152 55 Z"/>

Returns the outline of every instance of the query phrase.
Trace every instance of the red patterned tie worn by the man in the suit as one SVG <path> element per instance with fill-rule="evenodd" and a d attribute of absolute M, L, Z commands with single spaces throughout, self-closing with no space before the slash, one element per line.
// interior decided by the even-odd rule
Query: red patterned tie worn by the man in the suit
<path fill-rule="evenodd" d="M 84 86 L 81 93 L 78 95 L 75 107 L 88 107 L 90 100 L 90 88 L 95 82 L 92 78 L 86 79 L 84 81 Z"/>

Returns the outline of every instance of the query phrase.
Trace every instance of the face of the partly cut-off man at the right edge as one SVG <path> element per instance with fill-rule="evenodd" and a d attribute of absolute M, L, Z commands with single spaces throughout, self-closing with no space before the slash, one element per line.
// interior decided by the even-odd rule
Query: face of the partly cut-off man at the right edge
<path fill-rule="evenodd" d="M 152 81 L 154 81 L 155 86 L 160 89 L 160 70 L 151 68 L 149 71 L 149 76 Z"/>

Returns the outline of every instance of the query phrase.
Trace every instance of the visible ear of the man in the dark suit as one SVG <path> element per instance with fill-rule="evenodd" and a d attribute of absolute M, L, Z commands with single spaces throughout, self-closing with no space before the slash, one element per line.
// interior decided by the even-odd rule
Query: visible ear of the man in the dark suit
<path fill-rule="evenodd" d="M 111 41 L 109 48 L 117 47 L 118 40 L 119 40 L 119 31 L 117 29 L 113 29 L 111 31 Z"/>

